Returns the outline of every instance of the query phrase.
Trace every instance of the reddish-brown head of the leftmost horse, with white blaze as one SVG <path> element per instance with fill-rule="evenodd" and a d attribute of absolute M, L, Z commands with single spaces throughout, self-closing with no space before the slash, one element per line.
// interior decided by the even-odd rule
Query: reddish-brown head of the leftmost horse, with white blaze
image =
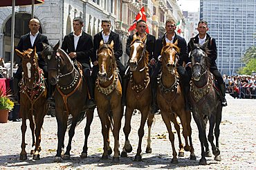
<path fill-rule="evenodd" d="M 37 62 L 36 48 L 24 50 L 21 53 L 19 50 L 15 49 L 17 55 L 22 59 L 22 69 L 24 72 L 24 83 L 30 89 L 34 88 L 35 82 L 39 79 L 39 68 Z"/>

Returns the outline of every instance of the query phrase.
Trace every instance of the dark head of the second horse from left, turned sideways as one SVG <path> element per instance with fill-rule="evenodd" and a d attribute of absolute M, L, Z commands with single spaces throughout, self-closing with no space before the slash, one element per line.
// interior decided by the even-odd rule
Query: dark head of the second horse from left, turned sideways
<path fill-rule="evenodd" d="M 60 76 L 60 53 L 57 52 L 60 41 L 54 46 L 44 44 L 44 50 L 42 51 L 42 58 L 46 61 L 48 67 L 48 79 L 52 85 L 57 84 Z"/>

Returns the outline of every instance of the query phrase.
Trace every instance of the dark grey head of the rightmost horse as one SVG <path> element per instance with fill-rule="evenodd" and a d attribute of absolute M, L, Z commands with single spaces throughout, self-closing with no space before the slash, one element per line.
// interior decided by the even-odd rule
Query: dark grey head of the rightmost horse
<path fill-rule="evenodd" d="M 209 68 L 208 61 L 208 41 L 205 41 L 203 45 L 194 44 L 194 41 L 190 41 L 190 58 L 192 61 L 192 77 L 195 81 L 199 81 L 201 75 Z"/>

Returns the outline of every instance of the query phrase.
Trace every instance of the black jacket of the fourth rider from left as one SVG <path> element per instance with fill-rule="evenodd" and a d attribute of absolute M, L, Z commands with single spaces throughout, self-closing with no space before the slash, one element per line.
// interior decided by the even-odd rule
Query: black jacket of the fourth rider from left
<path fill-rule="evenodd" d="M 136 35 L 138 36 L 138 32 L 136 32 Z M 127 44 L 126 44 L 126 53 L 128 56 L 131 55 L 131 42 L 133 39 L 134 35 L 130 35 L 127 39 Z M 156 42 L 156 37 L 153 35 L 147 34 L 147 41 L 146 41 L 146 49 L 147 52 L 149 53 L 149 60 L 153 58 L 154 56 L 154 46 Z"/>

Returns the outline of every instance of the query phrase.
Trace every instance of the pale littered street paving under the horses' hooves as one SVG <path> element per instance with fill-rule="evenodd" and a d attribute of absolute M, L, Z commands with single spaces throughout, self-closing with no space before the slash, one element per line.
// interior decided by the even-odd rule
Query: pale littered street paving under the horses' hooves
<path fill-rule="evenodd" d="M 100 160 L 102 155 L 102 135 L 100 119 L 95 112 L 89 135 L 89 158 L 81 159 L 80 153 L 84 143 L 85 120 L 77 126 L 71 149 L 71 160 L 62 163 L 53 162 L 57 149 L 57 122 L 55 117 L 46 116 L 44 130 L 42 131 L 42 152 L 40 160 L 19 160 L 21 151 L 21 122 L 8 122 L 0 124 L 0 169 L 256 169 L 256 100 L 232 99 L 227 96 L 228 106 L 223 108 L 221 122 L 221 134 L 219 138 L 221 162 L 214 161 L 214 157 L 207 158 L 208 164 L 199 165 L 201 149 L 198 139 L 198 131 L 192 120 L 192 139 L 194 142 L 196 160 L 189 160 L 189 153 L 184 158 L 179 158 L 179 164 L 171 164 L 172 150 L 168 140 L 167 129 L 161 118 L 156 115 L 156 122 L 152 128 L 152 153 L 145 153 L 147 145 L 147 126 L 143 138 L 143 161 L 134 162 L 134 156 L 138 145 L 138 124 L 140 114 L 136 113 L 131 121 L 131 133 L 129 136 L 133 151 L 128 158 L 120 158 L 119 164 L 113 164 L 109 160 Z M 122 127 L 125 118 L 122 118 Z M 28 125 L 28 123 L 27 123 Z M 167 136 L 167 138 L 166 138 Z M 66 133 L 67 142 L 68 134 Z M 175 134 L 176 137 L 176 134 Z M 28 125 L 26 132 L 26 151 L 30 152 L 31 135 Z M 125 142 L 125 135 L 120 131 L 120 151 Z M 179 149 L 177 137 L 175 139 L 176 151 Z M 113 148 L 113 137 L 111 136 Z M 113 155 L 113 153 L 112 153 Z"/>

